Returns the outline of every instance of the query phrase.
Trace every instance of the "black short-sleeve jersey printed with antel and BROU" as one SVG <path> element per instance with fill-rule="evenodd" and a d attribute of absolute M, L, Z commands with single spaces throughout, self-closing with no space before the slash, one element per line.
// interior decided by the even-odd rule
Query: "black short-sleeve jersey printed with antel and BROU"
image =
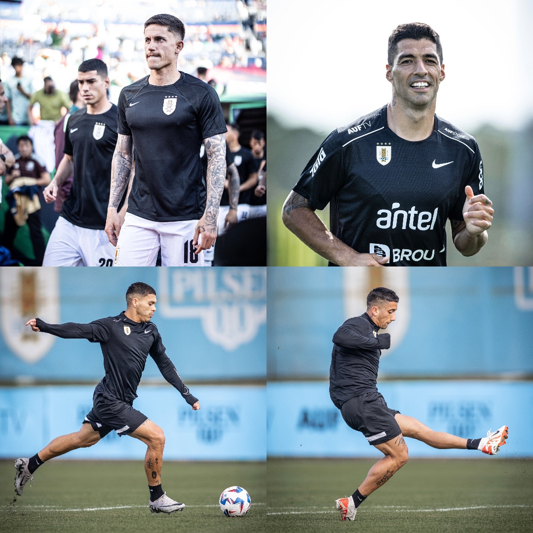
<path fill-rule="evenodd" d="M 333 235 L 387 266 L 446 266 L 446 220 L 463 221 L 465 187 L 483 193 L 478 143 L 435 115 L 432 134 L 406 141 L 387 106 L 338 128 L 309 161 L 294 191 L 313 209 L 330 205 Z"/>

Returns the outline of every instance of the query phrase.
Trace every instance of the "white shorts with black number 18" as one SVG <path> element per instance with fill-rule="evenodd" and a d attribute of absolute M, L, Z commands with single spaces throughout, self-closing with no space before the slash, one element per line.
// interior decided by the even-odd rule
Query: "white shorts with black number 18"
<path fill-rule="evenodd" d="M 154 222 L 126 213 L 115 250 L 116 266 L 204 266 L 204 251 L 194 252 L 197 220 Z M 199 240 L 201 240 L 201 235 Z"/>

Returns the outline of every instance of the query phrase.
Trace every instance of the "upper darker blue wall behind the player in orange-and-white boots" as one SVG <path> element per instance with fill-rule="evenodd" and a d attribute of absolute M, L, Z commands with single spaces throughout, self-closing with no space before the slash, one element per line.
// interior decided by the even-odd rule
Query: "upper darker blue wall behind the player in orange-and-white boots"
<path fill-rule="evenodd" d="M 326 378 L 333 334 L 376 286 L 400 296 L 380 375 L 533 375 L 531 267 L 309 267 L 270 269 L 269 378 Z"/>

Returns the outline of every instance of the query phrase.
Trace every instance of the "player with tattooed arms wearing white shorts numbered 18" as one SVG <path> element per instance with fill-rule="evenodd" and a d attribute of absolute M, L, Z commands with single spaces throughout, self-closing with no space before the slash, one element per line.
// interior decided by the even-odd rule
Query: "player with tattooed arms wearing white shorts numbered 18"
<path fill-rule="evenodd" d="M 106 233 L 119 266 L 203 266 L 216 238 L 226 177 L 226 126 L 211 85 L 177 70 L 183 22 L 168 14 L 144 23 L 150 75 L 124 87 L 118 102 Z M 200 146 L 205 142 L 207 186 Z M 124 225 L 117 207 L 135 146 L 136 171 Z M 201 237 L 200 237 L 201 235 Z"/>

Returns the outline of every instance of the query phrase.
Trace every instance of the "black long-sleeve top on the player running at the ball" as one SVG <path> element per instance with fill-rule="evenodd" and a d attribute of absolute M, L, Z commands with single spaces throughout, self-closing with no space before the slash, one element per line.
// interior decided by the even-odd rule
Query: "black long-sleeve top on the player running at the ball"
<path fill-rule="evenodd" d="M 134 322 L 124 311 L 116 317 L 101 318 L 90 324 L 46 324 L 37 318 L 37 327 L 44 333 L 61 338 L 86 338 L 99 342 L 106 376 L 96 385 L 95 394 L 130 403 L 136 391 L 148 354 L 154 359 L 163 377 L 174 386 L 189 405 L 198 401 L 181 380 L 176 367 L 166 354 L 161 335 L 154 322 Z"/>

